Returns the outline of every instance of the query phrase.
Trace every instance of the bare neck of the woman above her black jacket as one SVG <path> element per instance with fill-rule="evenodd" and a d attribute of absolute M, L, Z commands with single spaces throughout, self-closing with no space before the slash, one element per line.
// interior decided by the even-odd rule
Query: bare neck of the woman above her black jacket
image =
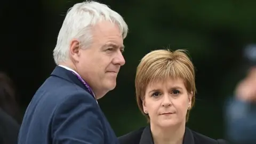
<path fill-rule="evenodd" d="M 182 144 L 185 134 L 185 123 L 170 127 L 150 125 L 155 144 Z"/>

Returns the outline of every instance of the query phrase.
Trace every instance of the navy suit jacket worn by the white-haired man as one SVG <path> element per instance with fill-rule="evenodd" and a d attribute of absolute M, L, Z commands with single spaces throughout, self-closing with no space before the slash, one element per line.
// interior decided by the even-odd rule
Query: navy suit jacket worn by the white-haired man
<path fill-rule="evenodd" d="M 57 66 L 29 103 L 18 143 L 103 144 L 118 140 L 93 95 L 71 71 Z"/>

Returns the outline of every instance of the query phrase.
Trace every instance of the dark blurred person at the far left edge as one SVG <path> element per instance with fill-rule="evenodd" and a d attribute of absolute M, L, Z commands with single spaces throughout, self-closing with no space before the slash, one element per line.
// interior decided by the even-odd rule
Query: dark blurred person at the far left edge
<path fill-rule="evenodd" d="M 19 107 L 15 100 L 12 79 L 0 72 L 0 143 L 17 144 L 19 134 Z"/>

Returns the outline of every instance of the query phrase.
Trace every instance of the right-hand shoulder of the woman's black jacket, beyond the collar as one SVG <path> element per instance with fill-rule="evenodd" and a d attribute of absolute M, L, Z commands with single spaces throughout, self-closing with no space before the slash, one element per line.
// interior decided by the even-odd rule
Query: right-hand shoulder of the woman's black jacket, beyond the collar
<path fill-rule="evenodd" d="M 195 143 L 209 143 L 209 144 L 228 144 L 226 140 L 223 139 L 212 139 L 203 135 L 201 133 L 191 131 L 195 140 Z"/>

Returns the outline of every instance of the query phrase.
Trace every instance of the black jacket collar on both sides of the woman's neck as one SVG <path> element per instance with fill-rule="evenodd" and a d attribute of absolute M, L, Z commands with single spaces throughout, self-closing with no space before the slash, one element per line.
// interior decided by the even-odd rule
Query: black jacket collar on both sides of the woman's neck
<path fill-rule="evenodd" d="M 150 126 L 145 127 L 145 129 L 143 130 L 139 144 L 154 144 Z M 195 144 L 193 134 L 191 130 L 188 129 L 188 127 L 186 127 L 185 129 L 183 144 Z"/>

